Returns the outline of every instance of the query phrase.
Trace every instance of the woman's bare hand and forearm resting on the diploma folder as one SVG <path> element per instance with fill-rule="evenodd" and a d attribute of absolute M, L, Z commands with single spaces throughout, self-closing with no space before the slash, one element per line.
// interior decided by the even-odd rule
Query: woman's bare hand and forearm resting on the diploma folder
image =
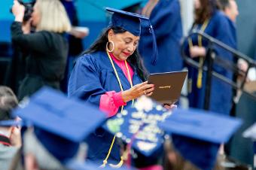
<path fill-rule="evenodd" d="M 129 102 L 130 100 L 137 99 L 142 95 L 151 96 L 154 91 L 154 84 L 148 84 L 148 81 L 136 84 L 130 90 L 122 92 L 123 102 Z"/>

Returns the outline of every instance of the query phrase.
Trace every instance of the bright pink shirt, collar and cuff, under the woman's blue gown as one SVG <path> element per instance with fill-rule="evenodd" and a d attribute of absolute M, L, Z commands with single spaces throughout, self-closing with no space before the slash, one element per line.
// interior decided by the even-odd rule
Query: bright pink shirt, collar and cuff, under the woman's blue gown
<path fill-rule="evenodd" d="M 121 68 L 124 75 L 130 82 L 130 78 L 128 75 L 128 71 L 126 69 L 125 62 L 116 59 L 112 53 L 109 53 L 109 54 L 111 56 L 111 59 L 113 59 L 113 61 Z M 133 80 L 133 74 L 134 74 L 133 68 L 129 65 L 128 62 L 127 62 L 127 65 L 130 71 L 131 80 Z M 104 111 L 106 114 L 108 114 L 108 117 L 113 117 L 115 114 L 117 114 L 119 107 L 122 105 L 126 105 L 126 103 L 123 102 L 121 92 L 117 93 L 115 91 L 109 91 L 100 97 L 99 109 L 101 111 Z"/>

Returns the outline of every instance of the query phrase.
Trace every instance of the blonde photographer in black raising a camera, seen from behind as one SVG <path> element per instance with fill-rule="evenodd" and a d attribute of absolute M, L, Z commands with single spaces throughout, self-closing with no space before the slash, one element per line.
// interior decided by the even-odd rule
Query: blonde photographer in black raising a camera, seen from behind
<path fill-rule="evenodd" d="M 14 45 L 28 50 L 26 77 L 19 87 L 18 97 L 31 96 L 44 85 L 59 89 L 68 56 L 68 42 L 64 37 L 71 25 L 59 0 L 37 0 L 31 17 L 35 33 L 24 34 L 22 22 L 25 6 L 14 0 L 15 20 L 11 25 Z"/>

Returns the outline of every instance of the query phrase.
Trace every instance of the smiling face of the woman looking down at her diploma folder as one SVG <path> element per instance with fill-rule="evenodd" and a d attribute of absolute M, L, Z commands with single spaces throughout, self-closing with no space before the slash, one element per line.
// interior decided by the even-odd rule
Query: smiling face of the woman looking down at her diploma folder
<path fill-rule="evenodd" d="M 135 36 L 130 32 L 123 32 L 114 34 L 112 29 L 108 31 L 108 41 L 113 41 L 114 50 L 113 54 L 118 60 L 126 60 L 131 56 L 139 44 L 139 36 Z M 112 50 L 111 43 L 108 44 L 108 49 Z"/>

